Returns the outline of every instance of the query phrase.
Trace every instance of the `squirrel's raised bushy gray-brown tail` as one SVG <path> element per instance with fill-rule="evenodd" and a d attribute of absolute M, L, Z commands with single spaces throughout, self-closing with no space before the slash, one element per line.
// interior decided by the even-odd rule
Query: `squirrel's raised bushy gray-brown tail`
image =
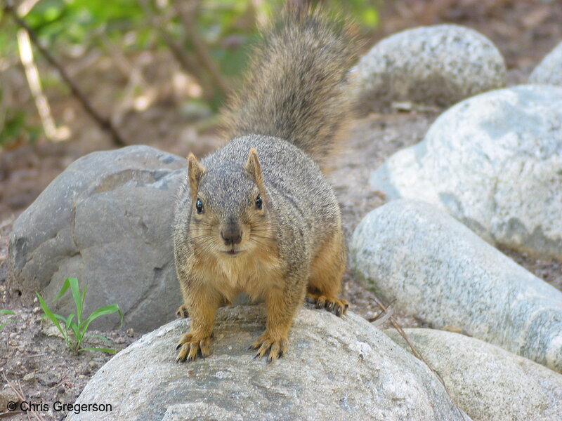
<path fill-rule="evenodd" d="M 352 109 L 348 70 L 358 42 L 347 22 L 292 8 L 254 48 L 244 90 L 226 112 L 229 138 L 282 138 L 321 161 Z"/>

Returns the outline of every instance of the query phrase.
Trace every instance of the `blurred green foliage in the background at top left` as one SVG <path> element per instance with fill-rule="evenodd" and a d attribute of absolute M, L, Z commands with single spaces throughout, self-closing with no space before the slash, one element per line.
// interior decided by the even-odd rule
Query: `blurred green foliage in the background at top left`
<path fill-rule="evenodd" d="M 256 28 L 280 11 L 284 3 L 282 0 L 4 1 L 0 11 L 0 77 L 6 76 L 8 71 L 24 74 L 20 60 L 23 60 L 21 43 L 25 40 L 18 39 L 21 25 L 11 16 L 17 13 L 37 35 L 41 46 L 76 78 L 77 86 L 84 86 L 84 99 L 93 102 L 93 107 L 116 126 L 121 120 L 119 113 L 125 112 L 115 107 L 123 106 L 125 97 L 132 104 L 130 107 L 138 111 L 150 107 L 158 96 L 152 92 L 154 89 L 150 91 L 147 82 L 150 77 L 146 73 L 159 71 L 144 69 L 139 73 L 136 68 L 136 60 L 146 53 L 165 56 L 166 60 L 155 60 L 156 65 L 162 67 L 171 65 L 171 56 L 181 69 L 182 80 L 188 87 L 178 105 L 186 118 L 212 121 L 226 93 L 240 81 L 249 46 L 259 37 Z M 381 1 L 325 0 L 322 4 L 351 16 L 363 36 L 368 36 L 379 23 Z M 39 86 L 35 89 L 44 91 L 47 105 L 51 102 L 51 107 L 57 108 L 55 100 L 70 95 L 70 88 L 59 72 L 44 60 L 37 46 L 33 46 L 33 51 L 32 66 L 39 74 L 39 81 L 35 82 Z M 159 55 L 162 52 L 169 56 Z M 89 91 L 96 91 L 96 83 L 104 81 L 96 82 L 93 74 L 89 74 L 93 81 L 85 81 L 82 71 L 95 62 L 84 58 L 100 56 L 112 58 L 111 66 L 118 67 L 126 79 L 126 83 L 112 83 L 111 98 L 106 103 L 88 98 Z M 77 62 L 81 59 L 86 64 L 82 63 L 79 71 Z M 129 79 L 134 79 L 133 83 Z M 29 75 L 27 83 L 33 92 Z M 37 116 L 40 107 L 37 95 L 21 92 L 23 86 L 15 90 L 15 85 L 10 77 L 0 79 L 0 148 L 33 142 L 46 135 L 43 116 L 41 119 Z M 51 107 L 44 110 L 44 114 L 51 114 Z M 55 114 L 54 121 L 57 120 L 60 116 Z M 56 136 L 46 135 L 47 138 Z M 64 134 L 59 136 L 64 137 Z"/>

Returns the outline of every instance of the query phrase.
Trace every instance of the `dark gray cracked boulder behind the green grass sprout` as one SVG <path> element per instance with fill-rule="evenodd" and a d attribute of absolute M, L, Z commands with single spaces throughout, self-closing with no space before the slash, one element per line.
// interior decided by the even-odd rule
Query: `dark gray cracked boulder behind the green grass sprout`
<path fill-rule="evenodd" d="M 67 276 L 87 285 L 86 314 L 116 303 L 147 331 L 174 318 L 181 293 L 171 243 L 185 159 L 147 146 L 94 152 L 72 163 L 14 222 L 8 290 L 51 300 Z M 75 312 L 67 293 L 55 309 Z M 96 320 L 112 328 L 117 315 Z"/>

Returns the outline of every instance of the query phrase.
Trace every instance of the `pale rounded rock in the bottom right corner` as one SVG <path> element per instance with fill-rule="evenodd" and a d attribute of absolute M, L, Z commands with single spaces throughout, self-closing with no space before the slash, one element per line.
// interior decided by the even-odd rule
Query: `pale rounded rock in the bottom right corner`
<path fill-rule="evenodd" d="M 396 330 L 384 333 L 410 351 Z M 433 329 L 405 329 L 405 333 L 472 420 L 561 420 L 562 375 L 458 333 Z"/>

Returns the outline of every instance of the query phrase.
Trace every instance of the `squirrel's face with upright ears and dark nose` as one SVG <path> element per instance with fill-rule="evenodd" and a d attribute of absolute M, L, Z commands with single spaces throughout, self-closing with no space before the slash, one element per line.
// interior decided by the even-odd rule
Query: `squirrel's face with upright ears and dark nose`
<path fill-rule="evenodd" d="M 256 150 L 246 165 L 204 168 L 189 156 L 189 236 L 197 250 L 233 258 L 268 246 L 270 224 Z"/>

